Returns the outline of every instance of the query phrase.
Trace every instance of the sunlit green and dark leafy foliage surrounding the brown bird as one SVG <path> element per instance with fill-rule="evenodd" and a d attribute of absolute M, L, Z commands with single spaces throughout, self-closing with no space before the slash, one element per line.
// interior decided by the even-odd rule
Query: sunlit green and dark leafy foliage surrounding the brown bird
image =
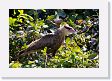
<path fill-rule="evenodd" d="M 21 57 L 17 54 L 42 35 L 56 31 L 54 20 L 62 19 L 77 30 L 67 36 L 55 57 L 47 60 L 46 48 Z M 10 68 L 98 68 L 99 10 L 97 9 L 10 9 Z"/>

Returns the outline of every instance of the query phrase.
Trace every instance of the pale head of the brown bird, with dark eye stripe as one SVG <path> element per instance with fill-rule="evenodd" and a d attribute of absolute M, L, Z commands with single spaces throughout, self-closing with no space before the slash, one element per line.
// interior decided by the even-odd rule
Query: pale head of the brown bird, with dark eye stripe
<path fill-rule="evenodd" d="M 69 26 L 68 24 L 64 24 L 61 27 L 61 30 L 63 31 L 63 33 L 67 36 L 73 33 L 76 33 L 76 30 L 73 29 L 71 26 Z"/>

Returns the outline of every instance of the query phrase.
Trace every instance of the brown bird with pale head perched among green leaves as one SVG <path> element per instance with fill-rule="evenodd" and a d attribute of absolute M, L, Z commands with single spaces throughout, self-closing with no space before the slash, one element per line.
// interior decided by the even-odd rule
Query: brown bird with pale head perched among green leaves
<path fill-rule="evenodd" d="M 31 53 L 39 49 L 42 50 L 47 47 L 46 53 L 48 57 L 53 57 L 55 56 L 60 46 L 63 44 L 65 36 L 68 36 L 75 32 L 76 30 L 73 27 L 69 26 L 67 23 L 60 25 L 60 28 L 58 28 L 54 33 L 47 34 L 40 39 L 31 42 L 26 49 L 19 52 L 19 56 Z"/>

